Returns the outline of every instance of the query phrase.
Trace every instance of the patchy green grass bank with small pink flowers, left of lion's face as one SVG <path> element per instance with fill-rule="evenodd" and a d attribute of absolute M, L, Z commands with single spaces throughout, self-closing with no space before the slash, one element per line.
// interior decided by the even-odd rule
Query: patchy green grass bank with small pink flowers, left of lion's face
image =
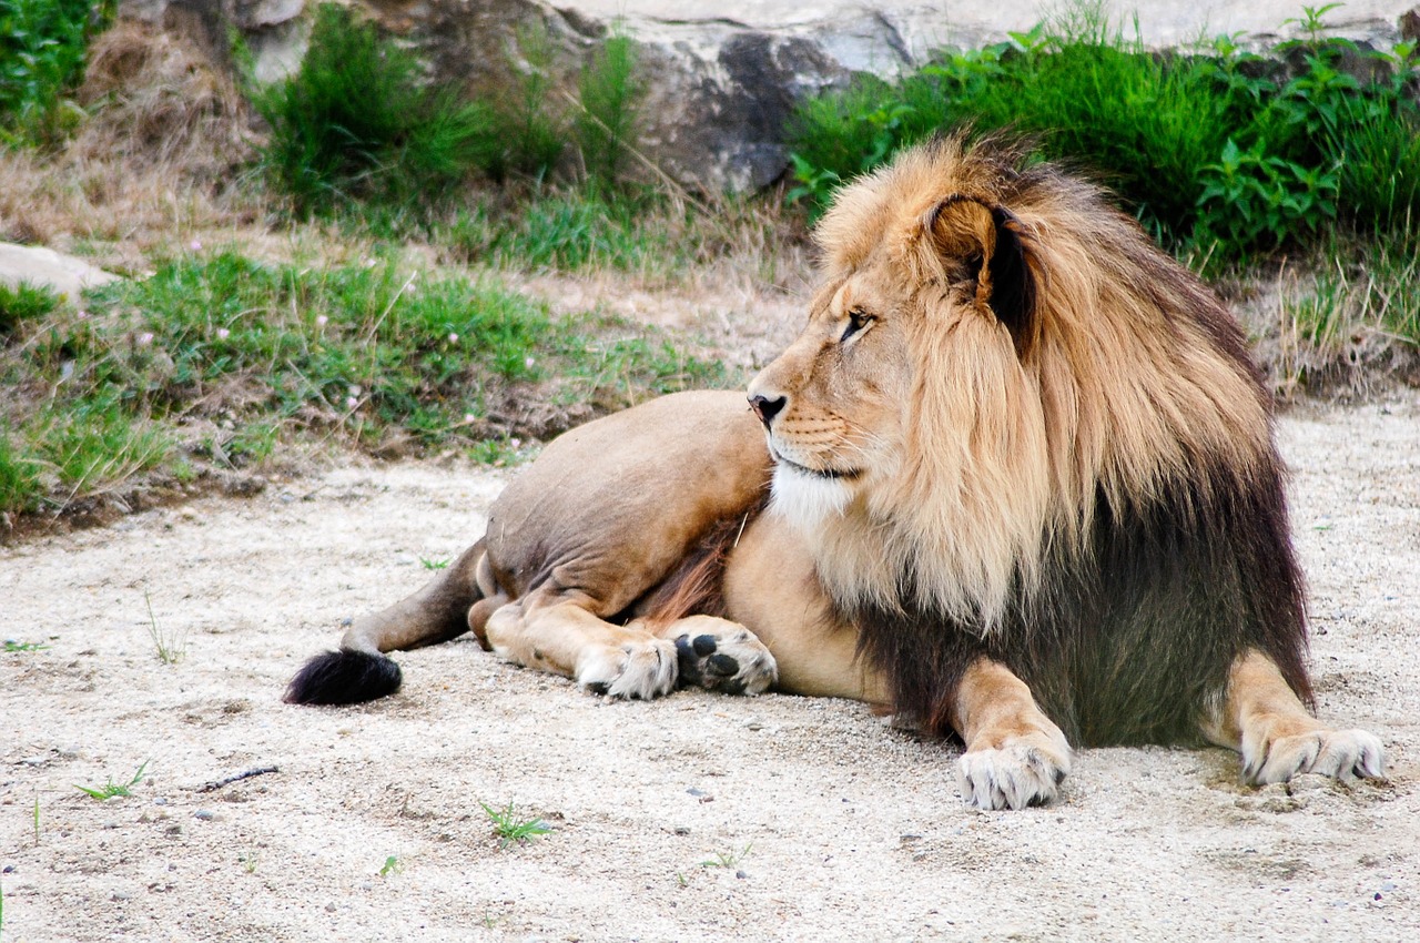
<path fill-rule="evenodd" d="M 322 268 L 216 251 L 17 321 L 0 381 L 20 392 L 0 423 L 0 511 L 36 511 L 145 471 L 260 466 L 283 437 L 504 460 L 581 403 L 605 412 L 724 371 L 655 331 L 555 318 L 493 280 L 393 254 Z M 534 425 L 507 418 L 524 400 L 541 403 Z"/>

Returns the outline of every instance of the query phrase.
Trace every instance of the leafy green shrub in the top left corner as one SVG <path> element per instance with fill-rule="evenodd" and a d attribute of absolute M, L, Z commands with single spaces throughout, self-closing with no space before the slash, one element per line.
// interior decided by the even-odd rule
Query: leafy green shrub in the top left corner
<path fill-rule="evenodd" d="M 0 0 L 0 139 L 53 143 L 82 112 L 64 94 L 84 78 L 92 36 L 116 0 Z"/>

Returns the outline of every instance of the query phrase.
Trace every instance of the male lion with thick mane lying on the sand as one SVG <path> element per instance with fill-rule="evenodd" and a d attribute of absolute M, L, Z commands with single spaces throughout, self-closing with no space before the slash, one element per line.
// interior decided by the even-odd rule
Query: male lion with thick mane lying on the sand
<path fill-rule="evenodd" d="M 1375 736 L 1304 707 L 1268 395 L 1196 278 L 997 141 L 903 153 L 816 239 L 808 327 L 750 410 L 682 393 L 559 437 L 483 540 L 287 699 L 379 697 L 385 652 L 473 629 L 616 697 L 882 703 L 961 737 L 981 808 L 1048 802 L 1071 743 L 1206 738 L 1255 783 L 1380 775 Z"/>

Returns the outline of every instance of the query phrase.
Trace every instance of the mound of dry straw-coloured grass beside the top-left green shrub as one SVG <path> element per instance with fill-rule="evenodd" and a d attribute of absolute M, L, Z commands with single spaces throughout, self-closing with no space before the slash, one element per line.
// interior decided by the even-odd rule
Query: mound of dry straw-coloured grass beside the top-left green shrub
<path fill-rule="evenodd" d="M 0 239 L 138 270 L 151 251 L 261 217 L 236 173 L 253 153 L 247 108 L 190 43 L 115 26 L 78 99 L 91 116 L 61 151 L 0 152 Z"/>

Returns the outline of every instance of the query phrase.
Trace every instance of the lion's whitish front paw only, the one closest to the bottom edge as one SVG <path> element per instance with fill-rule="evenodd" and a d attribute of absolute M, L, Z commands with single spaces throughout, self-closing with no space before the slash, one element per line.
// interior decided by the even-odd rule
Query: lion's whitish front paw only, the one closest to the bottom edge
<path fill-rule="evenodd" d="M 967 750 L 957 761 L 957 783 L 967 805 L 981 810 L 1045 805 L 1069 774 L 1065 737 L 1032 733 L 998 747 Z"/>

